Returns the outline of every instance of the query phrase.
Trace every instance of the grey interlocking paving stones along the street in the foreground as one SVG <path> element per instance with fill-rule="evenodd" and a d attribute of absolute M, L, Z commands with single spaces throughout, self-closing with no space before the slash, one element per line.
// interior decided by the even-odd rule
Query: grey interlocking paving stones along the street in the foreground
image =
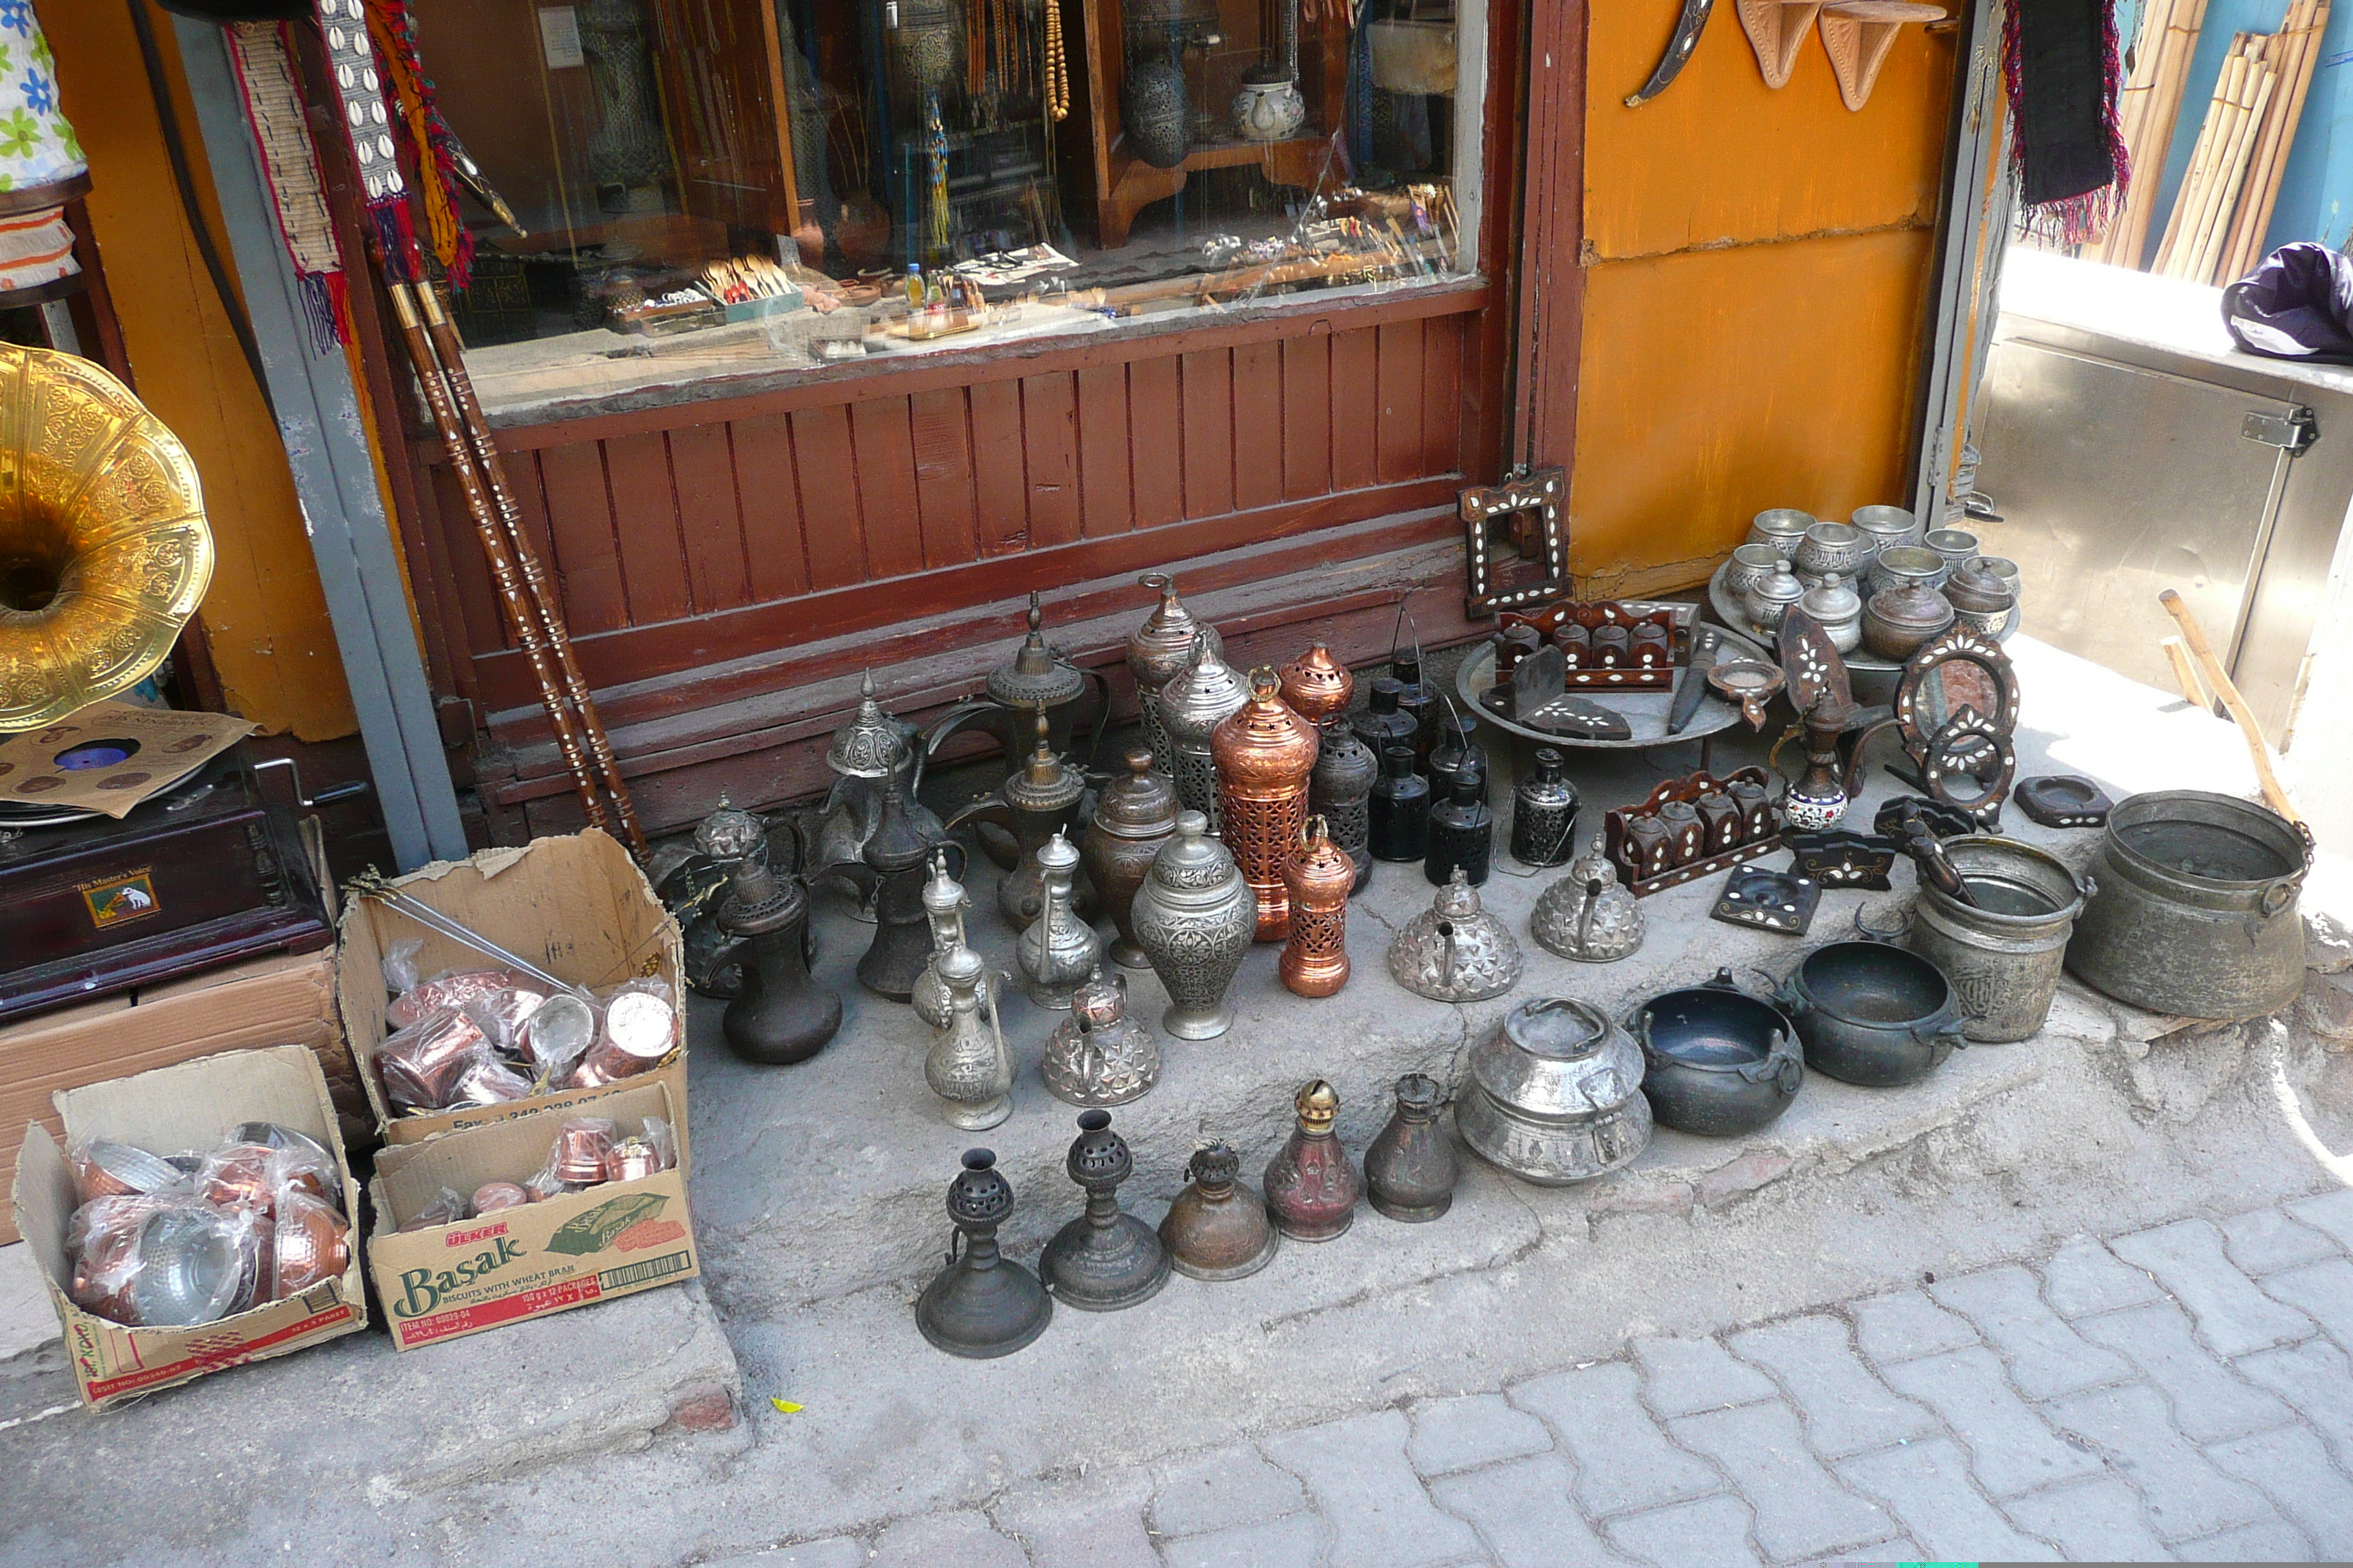
<path fill-rule="evenodd" d="M 2348 1354 L 2332 1192 L 725 1561 L 2341 1561 Z"/>

